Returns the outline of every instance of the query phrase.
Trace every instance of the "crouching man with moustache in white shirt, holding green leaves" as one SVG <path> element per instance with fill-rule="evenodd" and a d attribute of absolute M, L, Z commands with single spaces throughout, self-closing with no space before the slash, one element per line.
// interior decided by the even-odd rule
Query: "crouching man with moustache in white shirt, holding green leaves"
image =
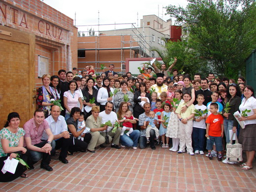
<path fill-rule="evenodd" d="M 111 101 L 107 101 L 106 105 L 105 105 L 105 111 L 102 111 L 99 113 L 99 117 L 102 118 L 101 123 L 104 124 L 107 121 L 110 121 L 112 126 L 108 126 L 106 131 L 100 131 L 100 134 L 105 137 L 106 136 L 106 132 L 109 138 L 109 142 L 112 141 L 112 137 L 114 137 L 113 139 L 113 143 L 111 145 L 112 148 L 116 148 L 116 149 L 120 149 L 121 147 L 119 147 L 119 139 L 120 139 L 120 135 L 121 135 L 121 128 L 117 128 L 116 132 L 112 132 L 112 128 L 114 127 L 113 125 L 115 124 L 115 122 L 117 121 L 117 114 L 112 111 L 113 109 L 113 102 Z M 102 145 L 100 145 L 101 147 L 103 147 Z"/>

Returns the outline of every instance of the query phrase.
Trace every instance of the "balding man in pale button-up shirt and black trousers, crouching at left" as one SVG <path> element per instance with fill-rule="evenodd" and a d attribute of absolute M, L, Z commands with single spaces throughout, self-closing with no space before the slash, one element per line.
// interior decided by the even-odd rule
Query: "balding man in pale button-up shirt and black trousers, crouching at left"
<path fill-rule="evenodd" d="M 69 139 L 70 135 L 67 131 L 65 118 L 61 116 L 61 108 L 57 105 L 52 106 L 51 115 L 45 120 L 48 122 L 54 135 L 52 142 L 53 148 L 55 147 L 57 150 L 61 148 L 59 160 L 65 164 L 68 163 L 68 160 L 66 160 L 67 150 L 72 140 Z M 41 140 L 47 140 L 47 138 L 48 136 L 44 132 Z"/>

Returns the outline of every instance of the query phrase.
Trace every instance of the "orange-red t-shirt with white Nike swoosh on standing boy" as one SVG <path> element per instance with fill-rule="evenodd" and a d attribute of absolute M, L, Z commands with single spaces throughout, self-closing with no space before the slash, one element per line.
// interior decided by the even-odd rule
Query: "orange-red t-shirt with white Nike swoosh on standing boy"
<path fill-rule="evenodd" d="M 209 117 L 206 119 L 205 123 L 210 124 L 209 127 L 209 135 L 213 137 L 220 137 L 222 134 L 222 127 L 221 125 L 223 124 L 223 117 L 222 115 L 214 115 L 211 114 Z"/>

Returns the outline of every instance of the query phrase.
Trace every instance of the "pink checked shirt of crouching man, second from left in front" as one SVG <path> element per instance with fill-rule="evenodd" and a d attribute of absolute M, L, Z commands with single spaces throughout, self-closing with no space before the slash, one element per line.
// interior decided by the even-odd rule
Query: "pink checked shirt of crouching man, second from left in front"
<path fill-rule="evenodd" d="M 45 129 L 50 128 L 49 124 L 46 120 L 44 120 L 41 125 L 39 125 L 38 129 L 36 129 L 35 127 L 35 123 L 34 123 L 34 119 L 30 119 L 29 121 L 27 121 L 24 125 L 24 130 L 26 131 L 26 134 L 24 135 L 24 137 L 30 137 L 31 138 L 31 144 L 35 145 L 38 143 L 41 143 L 41 138 L 43 135 L 43 131 Z M 24 142 L 24 147 L 26 147 L 26 142 Z"/>

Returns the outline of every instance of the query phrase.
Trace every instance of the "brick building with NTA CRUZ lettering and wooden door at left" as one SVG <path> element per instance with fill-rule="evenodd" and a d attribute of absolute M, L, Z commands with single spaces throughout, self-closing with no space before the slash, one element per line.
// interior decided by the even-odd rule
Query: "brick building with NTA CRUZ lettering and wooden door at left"
<path fill-rule="evenodd" d="M 40 0 L 0 0 L 0 65 L 0 121 L 17 111 L 23 124 L 35 109 L 40 77 L 77 66 L 73 20 Z"/>

